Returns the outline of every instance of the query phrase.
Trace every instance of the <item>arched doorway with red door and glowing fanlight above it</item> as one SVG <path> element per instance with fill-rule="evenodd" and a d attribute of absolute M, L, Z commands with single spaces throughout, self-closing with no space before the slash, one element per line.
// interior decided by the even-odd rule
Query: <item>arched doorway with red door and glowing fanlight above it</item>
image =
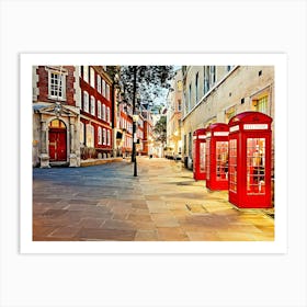
<path fill-rule="evenodd" d="M 50 162 L 67 160 L 67 132 L 60 120 L 49 123 L 49 159 Z"/>

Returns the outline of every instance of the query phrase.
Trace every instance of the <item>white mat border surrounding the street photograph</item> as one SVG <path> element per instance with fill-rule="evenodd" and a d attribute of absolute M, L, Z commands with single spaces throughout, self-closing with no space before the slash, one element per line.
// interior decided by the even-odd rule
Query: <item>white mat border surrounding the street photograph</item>
<path fill-rule="evenodd" d="M 103 59 L 103 62 L 101 62 Z M 152 60 L 155 59 L 155 60 Z M 286 253 L 287 69 L 285 54 L 21 54 L 21 253 Z M 270 65 L 275 67 L 275 241 L 38 242 L 32 241 L 32 66 L 35 65 Z"/>

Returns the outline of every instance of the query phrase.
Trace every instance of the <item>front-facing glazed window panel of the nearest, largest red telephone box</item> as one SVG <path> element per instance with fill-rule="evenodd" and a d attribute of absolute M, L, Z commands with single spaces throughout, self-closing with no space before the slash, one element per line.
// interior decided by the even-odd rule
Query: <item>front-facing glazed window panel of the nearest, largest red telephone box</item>
<path fill-rule="evenodd" d="M 265 138 L 247 139 L 247 193 L 265 192 Z"/>

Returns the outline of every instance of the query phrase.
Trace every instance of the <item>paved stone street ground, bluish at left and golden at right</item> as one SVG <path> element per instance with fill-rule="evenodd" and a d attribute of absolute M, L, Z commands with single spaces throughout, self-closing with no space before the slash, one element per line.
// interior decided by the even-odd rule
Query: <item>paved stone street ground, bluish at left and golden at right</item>
<path fill-rule="evenodd" d="M 33 169 L 33 240 L 272 241 L 265 211 L 239 209 L 181 162 L 138 157 L 86 168 Z"/>

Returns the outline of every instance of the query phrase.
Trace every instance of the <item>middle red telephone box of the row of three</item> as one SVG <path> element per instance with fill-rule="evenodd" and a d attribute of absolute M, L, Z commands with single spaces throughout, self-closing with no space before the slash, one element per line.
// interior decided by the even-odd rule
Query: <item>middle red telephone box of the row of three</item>
<path fill-rule="evenodd" d="M 206 133 L 206 187 L 228 189 L 228 134 L 227 124 L 215 123 Z"/>

